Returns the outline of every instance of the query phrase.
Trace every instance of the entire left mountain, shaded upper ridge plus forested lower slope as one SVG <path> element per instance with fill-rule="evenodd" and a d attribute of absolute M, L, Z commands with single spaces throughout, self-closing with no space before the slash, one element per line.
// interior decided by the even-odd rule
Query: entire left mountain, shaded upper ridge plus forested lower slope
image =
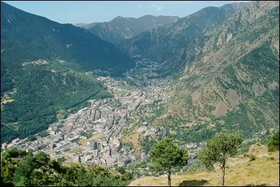
<path fill-rule="evenodd" d="M 1 142 L 38 133 L 90 98 L 111 96 L 92 73 L 122 75 L 134 66 L 86 29 L 1 2 Z"/>

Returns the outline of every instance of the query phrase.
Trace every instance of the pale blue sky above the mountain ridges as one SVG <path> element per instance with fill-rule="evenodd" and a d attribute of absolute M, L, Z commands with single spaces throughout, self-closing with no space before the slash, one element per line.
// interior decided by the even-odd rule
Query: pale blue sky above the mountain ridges
<path fill-rule="evenodd" d="M 62 24 L 109 22 L 117 16 L 176 15 L 186 17 L 207 6 L 240 1 L 3 1 L 28 13 Z"/>

